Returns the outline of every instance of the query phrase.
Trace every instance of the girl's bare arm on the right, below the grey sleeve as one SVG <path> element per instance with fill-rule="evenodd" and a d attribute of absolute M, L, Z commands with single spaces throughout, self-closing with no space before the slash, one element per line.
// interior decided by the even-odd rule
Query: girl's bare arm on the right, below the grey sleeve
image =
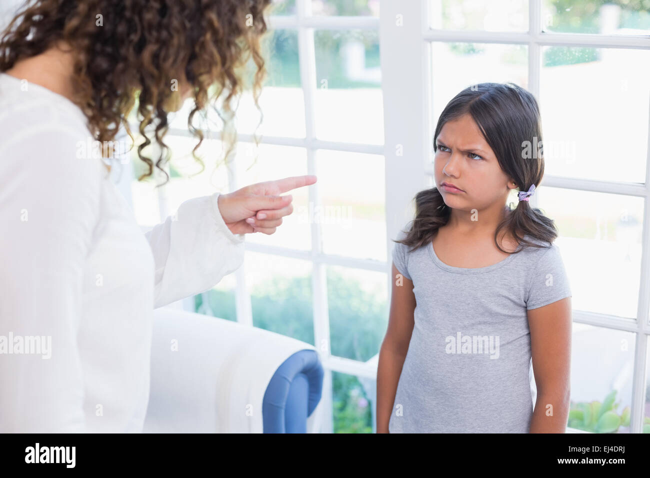
<path fill-rule="evenodd" d="M 564 433 L 571 395 L 571 297 L 528 310 L 537 399 L 530 433 Z"/>

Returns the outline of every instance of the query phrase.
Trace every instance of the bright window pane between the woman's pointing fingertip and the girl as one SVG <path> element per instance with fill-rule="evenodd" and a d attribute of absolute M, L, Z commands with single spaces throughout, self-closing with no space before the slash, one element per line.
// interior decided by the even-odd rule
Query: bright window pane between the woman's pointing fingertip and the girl
<path fill-rule="evenodd" d="M 323 252 L 385 261 L 383 156 L 318 150 L 315 161 L 321 204 L 309 218 L 321 224 Z"/>

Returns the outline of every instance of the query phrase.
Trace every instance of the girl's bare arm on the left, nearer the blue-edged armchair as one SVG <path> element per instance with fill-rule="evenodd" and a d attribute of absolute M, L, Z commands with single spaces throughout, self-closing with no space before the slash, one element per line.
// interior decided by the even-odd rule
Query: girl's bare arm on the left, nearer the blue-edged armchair
<path fill-rule="evenodd" d="M 388 433 L 397 384 L 413 333 L 415 295 L 413 282 L 393 263 L 393 289 L 388 330 L 383 338 L 377 367 L 377 432 Z"/>

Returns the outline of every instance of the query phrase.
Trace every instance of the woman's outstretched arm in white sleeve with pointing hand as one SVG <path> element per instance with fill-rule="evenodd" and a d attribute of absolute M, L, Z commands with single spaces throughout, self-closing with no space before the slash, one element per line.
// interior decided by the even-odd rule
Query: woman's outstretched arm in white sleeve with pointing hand
<path fill-rule="evenodd" d="M 145 234 L 155 261 L 154 307 L 205 292 L 239 268 L 244 233 L 274 233 L 293 211 L 292 196 L 279 194 L 315 182 L 313 175 L 291 176 L 183 202 Z"/>

